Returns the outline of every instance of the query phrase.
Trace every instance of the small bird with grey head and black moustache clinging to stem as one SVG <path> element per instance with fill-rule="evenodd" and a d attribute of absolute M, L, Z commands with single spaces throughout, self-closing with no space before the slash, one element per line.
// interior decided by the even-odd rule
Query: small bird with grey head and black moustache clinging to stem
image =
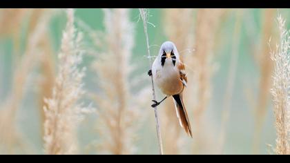
<path fill-rule="evenodd" d="M 153 80 L 162 93 L 166 95 L 164 99 L 171 96 L 173 97 L 180 126 L 182 126 L 186 133 L 192 137 L 189 116 L 187 115 L 182 98 L 182 92 L 187 84 L 185 67 L 182 61 L 180 61 L 180 55 L 173 42 L 166 41 L 162 44 L 159 55 L 153 62 L 152 69 L 148 71 L 148 75 L 153 75 Z M 154 104 L 151 106 L 153 108 L 158 106 L 164 99 L 160 102 L 152 100 Z"/>

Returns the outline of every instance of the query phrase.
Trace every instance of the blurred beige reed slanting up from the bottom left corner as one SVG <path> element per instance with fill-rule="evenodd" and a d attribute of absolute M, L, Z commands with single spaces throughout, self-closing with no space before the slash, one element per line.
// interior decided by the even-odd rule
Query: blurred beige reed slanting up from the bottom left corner
<path fill-rule="evenodd" d="M 0 144 L 3 153 L 14 153 L 16 147 L 26 152 L 28 146 L 23 147 L 21 133 L 17 129 L 16 116 L 23 99 L 23 93 L 28 76 L 35 69 L 41 57 L 39 50 L 39 41 L 43 34 L 47 32 L 47 26 L 52 17 L 50 12 L 45 12 L 41 15 L 33 32 L 28 35 L 28 43 L 23 56 L 15 67 L 13 73 L 12 90 L 0 106 Z M 25 143 L 26 144 L 26 143 Z"/>

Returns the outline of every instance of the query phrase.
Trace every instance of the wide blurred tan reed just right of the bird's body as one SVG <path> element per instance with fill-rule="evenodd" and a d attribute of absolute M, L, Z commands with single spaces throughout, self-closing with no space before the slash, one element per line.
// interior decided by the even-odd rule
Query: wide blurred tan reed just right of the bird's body
<path fill-rule="evenodd" d="M 224 10 L 222 9 L 198 9 L 195 26 L 195 55 L 186 59 L 194 72 L 189 76 L 186 101 L 189 101 L 193 108 L 193 153 L 210 153 L 213 146 L 205 134 L 204 111 L 209 104 L 211 97 L 211 76 L 213 75 L 213 48 L 215 41 L 215 31 L 220 23 L 220 18 Z M 191 98 L 191 99 L 189 99 Z"/>

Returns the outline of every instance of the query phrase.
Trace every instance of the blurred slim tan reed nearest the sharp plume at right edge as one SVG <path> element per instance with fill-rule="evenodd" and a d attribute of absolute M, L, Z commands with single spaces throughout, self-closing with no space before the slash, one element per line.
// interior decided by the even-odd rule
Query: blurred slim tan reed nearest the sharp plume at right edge
<path fill-rule="evenodd" d="M 266 9 L 263 12 L 263 23 L 262 23 L 262 50 L 260 55 L 255 57 L 257 60 L 260 70 L 260 84 L 258 90 L 258 99 L 255 104 L 255 130 L 253 135 L 253 153 L 258 154 L 260 152 L 260 142 L 262 127 L 267 115 L 268 104 L 271 88 L 271 73 L 273 71 L 273 61 L 269 58 L 269 45 L 268 39 L 273 34 L 273 19 L 275 17 L 276 9 Z M 272 37 L 273 40 L 273 37 Z M 257 53 L 255 53 L 257 54 Z"/>

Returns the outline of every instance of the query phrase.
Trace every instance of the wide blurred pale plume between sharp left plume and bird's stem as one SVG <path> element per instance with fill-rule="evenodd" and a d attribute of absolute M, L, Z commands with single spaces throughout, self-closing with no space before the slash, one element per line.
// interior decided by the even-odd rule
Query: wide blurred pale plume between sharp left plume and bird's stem
<path fill-rule="evenodd" d="M 131 91 L 135 26 L 129 9 L 104 9 L 104 32 L 101 52 L 93 63 L 100 93 L 95 94 L 99 150 L 112 154 L 136 153 L 136 131 L 140 110 L 137 95 Z M 142 100 L 144 97 L 141 97 Z"/>

